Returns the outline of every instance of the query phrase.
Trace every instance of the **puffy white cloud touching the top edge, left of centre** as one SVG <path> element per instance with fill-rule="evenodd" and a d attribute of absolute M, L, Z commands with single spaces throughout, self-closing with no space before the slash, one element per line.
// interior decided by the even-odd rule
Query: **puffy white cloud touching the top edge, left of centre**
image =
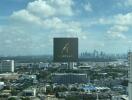
<path fill-rule="evenodd" d="M 49 16 L 72 16 L 72 0 L 39 0 L 28 4 L 27 10 L 42 18 Z"/>

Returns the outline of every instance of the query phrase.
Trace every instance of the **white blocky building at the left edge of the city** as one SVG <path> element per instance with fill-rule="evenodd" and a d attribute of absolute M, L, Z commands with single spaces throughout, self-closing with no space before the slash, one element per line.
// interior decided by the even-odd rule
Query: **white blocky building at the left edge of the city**
<path fill-rule="evenodd" d="M 14 60 L 2 60 L 0 62 L 0 73 L 14 72 Z"/>

